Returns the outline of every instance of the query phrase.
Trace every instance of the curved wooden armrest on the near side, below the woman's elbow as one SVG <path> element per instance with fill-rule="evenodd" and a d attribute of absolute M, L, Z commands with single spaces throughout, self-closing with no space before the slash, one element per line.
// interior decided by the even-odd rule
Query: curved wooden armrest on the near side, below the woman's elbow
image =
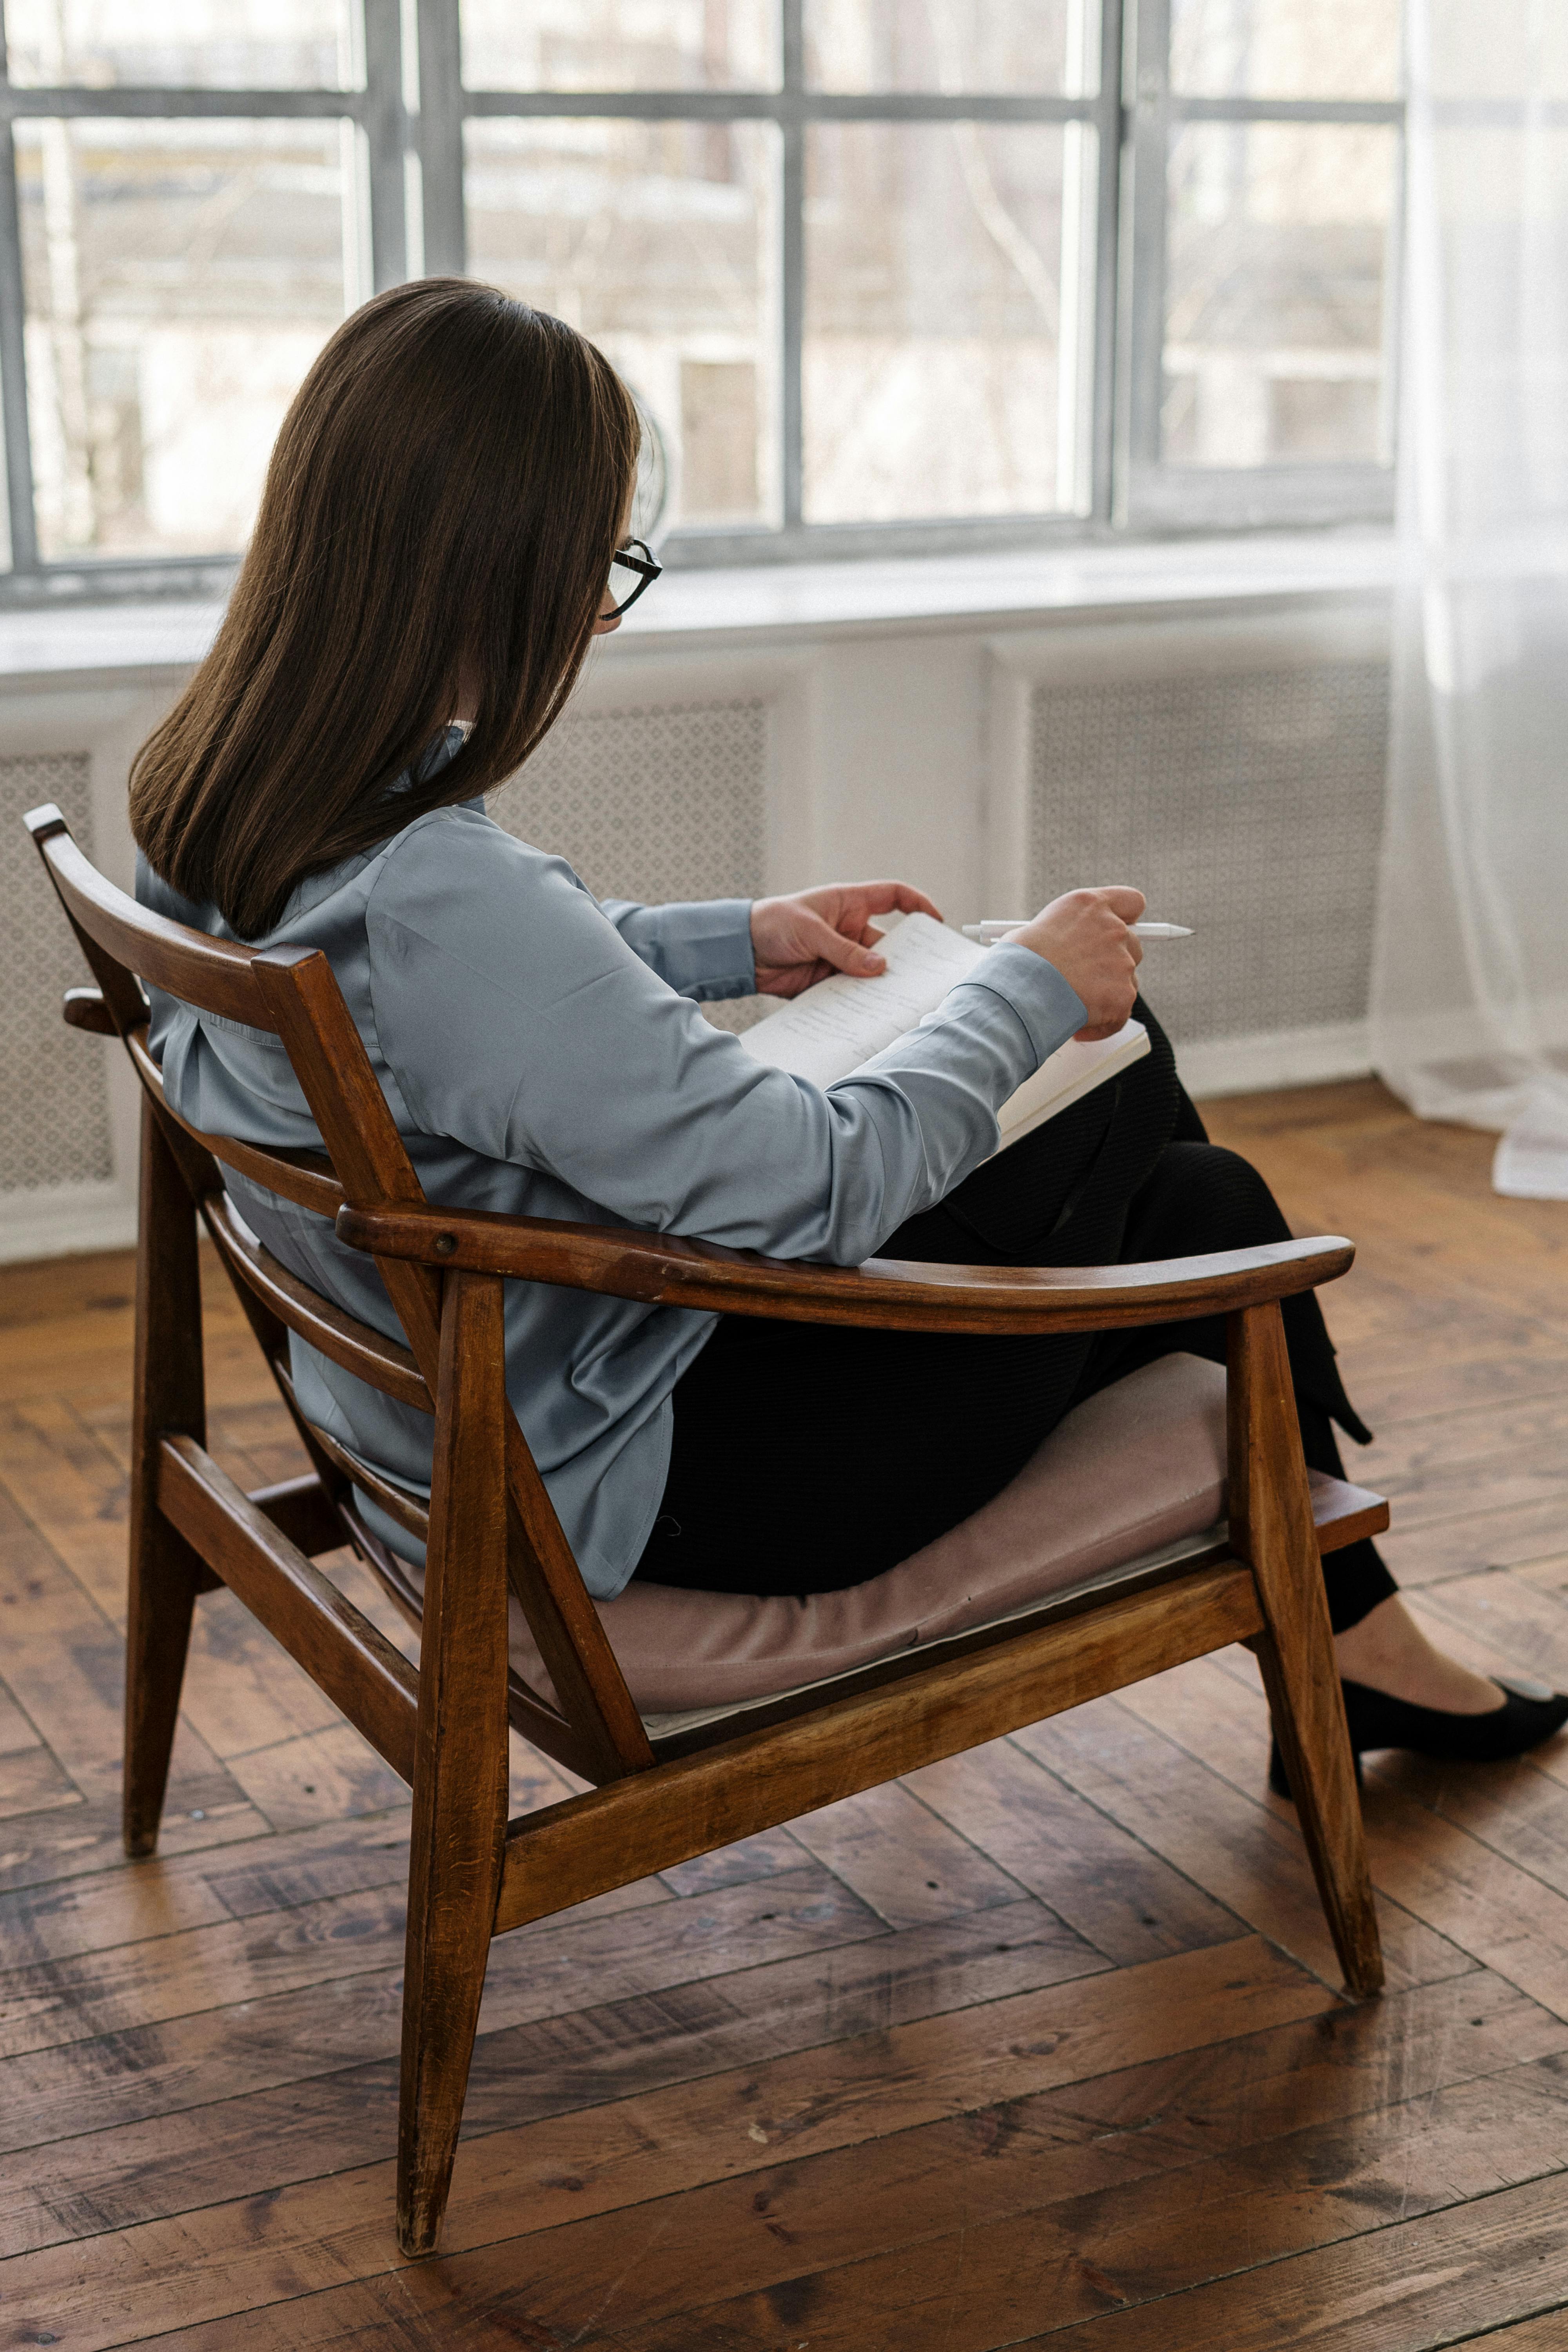
<path fill-rule="evenodd" d="M 559 1282 L 649 1305 L 884 1331 L 1027 1334 L 1185 1322 L 1309 1291 L 1347 1272 L 1354 1258 L 1349 1242 L 1328 1235 L 1152 1265 L 919 1265 L 900 1258 L 802 1265 L 623 1225 L 393 1202 L 343 1207 L 336 1230 L 339 1240 L 378 1258 Z"/>

